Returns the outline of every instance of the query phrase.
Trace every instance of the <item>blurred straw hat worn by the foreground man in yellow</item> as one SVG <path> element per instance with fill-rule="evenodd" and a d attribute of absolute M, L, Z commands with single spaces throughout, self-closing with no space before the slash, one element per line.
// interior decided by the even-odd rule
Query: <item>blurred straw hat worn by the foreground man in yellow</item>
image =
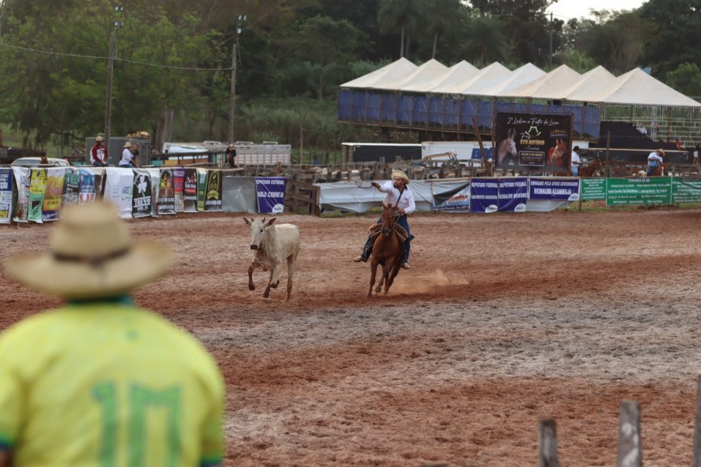
<path fill-rule="evenodd" d="M 50 252 L 6 259 L 10 276 L 63 299 L 114 297 L 168 271 L 173 254 L 160 243 L 130 241 L 114 204 L 68 206 L 50 238 Z"/>

